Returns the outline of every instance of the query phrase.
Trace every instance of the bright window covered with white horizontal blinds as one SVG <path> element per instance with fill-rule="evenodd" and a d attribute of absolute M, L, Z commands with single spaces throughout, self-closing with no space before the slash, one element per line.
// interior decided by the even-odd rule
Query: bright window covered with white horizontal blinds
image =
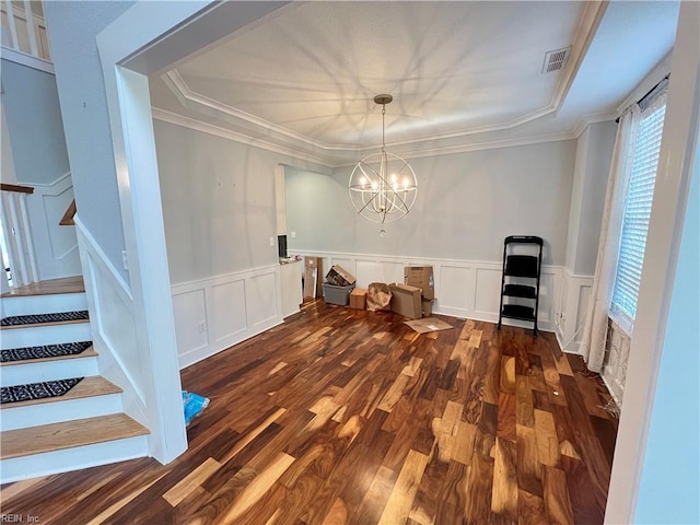
<path fill-rule="evenodd" d="M 658 166 L 666 96 L 657 97 L 642 112 L 634 141 L 634 156 L 625 200 L 619 261 L 612 292 L 612 311 L 634 320 L 642 277 L 646 232 L 652 211 Z"/>

